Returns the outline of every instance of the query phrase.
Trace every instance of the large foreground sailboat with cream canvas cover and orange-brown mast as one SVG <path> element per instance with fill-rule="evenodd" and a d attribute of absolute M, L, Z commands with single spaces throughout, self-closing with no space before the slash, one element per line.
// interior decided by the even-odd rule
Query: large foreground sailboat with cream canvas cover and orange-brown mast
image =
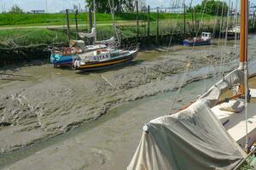
<path fill-rule="evenodd" d="M 239 68 L 189 107 L 148 122 L 127 169 L 237 169 L 246 160 L 256 141 L 256 102 L 249 103 L 247 7 L 247 0 L 241 0 Z M 232 88 L 236 93 L 221 99 Z"/>

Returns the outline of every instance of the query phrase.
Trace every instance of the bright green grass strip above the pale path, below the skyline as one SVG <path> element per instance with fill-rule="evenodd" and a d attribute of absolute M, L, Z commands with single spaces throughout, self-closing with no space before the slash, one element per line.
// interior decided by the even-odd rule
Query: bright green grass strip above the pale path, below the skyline
<path fill-rule="evenodd" d="M 192 19 L 191 14 L 187 14 L 187 20 Z M 196 14 L 197 20 L 201 19 L 201 14 Z M 203 20 L 211 20 L 213 17 L 209 14 L 204 14 Z M 74 20 L 74 14 L 69 14 L 69 19 Z M 78 15 L 80 23 L 88 24 L 88 14 L 82 13 Z M 115 20 L 136 20 L 137 14 L 124 13 L 115 14 Z M 150 20 L 157 19 L 156 13 L 150 14 Z M 183 14 L 160 14 L 160 20 L 182 20 Z M 139 14 L 139 20 L 148 20 L 145 13 Z M 74 22 L 74 21 L 72 21 Z M 96 14 L 97 24 L 112 23 L 111 14 Z M 44 26 L 44 25 L 63 25 L 66 24 L 66 14 L 0 14 L 0 26 Z"/>

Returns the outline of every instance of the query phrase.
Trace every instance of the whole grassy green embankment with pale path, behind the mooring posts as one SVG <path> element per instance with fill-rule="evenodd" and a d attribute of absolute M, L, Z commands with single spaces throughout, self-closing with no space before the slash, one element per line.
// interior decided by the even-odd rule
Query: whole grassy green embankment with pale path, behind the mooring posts
<path fill-rule="evenodd" d="M 203 16 L 203 17 L 202 17 Z M 65 30 L 65 14 L 0 14 L 0 46 L 19 47 L 31 44 L 52 44 L 53 42 L 67 42 L 67 31 Z M 116 14 L 119 35 L 122 38 L 136 37 L 136 14 Z M 156 34 L 157 14 L 150 14 L 150 34 Z M 197 20 L 203 20 L 202 26 L 213 26 L 214 17 L 209 14 L 196 14 Z M 147 20 L 147 14 L 139 14 L 140 20 Z M 186 21 L 191 23 L 191 14 L 186 15 Z M 74 14 L 70 14 L 70 24 L 74 24 Z M 107 39 L 113 36 L 112 17 L 110 14 L 96 14 L 97 39 Z M 46 22 L 46 23 L 45 23 Z M 26 26 L 61 26 L 54 30 L 40 28 L 28 28 Z M 89 32 L 87 14 L 79 14 L 79 31 Z M 142 22 L 140 22 L 142 24 Z M 63 27 L 62 27 L 63 25 Z M 139 28 L 140 36 L 146 36 L 147 23 Z M 19 29 L 3 29 L 3 27 L 25 26 Z M 183 31 L 183 14 L 160 14 L 160 35 L 172 33 L 172 31 Z M 191 30 L 191 26 L 190 26 Z M 72 27 L 74 32 L 74 28 Z M 75 38 L 73 34 L 73 38 Z"/>

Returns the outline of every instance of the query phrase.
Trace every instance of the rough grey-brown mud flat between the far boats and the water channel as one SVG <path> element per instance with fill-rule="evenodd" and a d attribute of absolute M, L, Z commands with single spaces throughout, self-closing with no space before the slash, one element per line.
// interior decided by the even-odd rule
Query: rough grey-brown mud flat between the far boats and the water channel
<path fill-rule="evenodd" d="M 144 51 L 130 65 L 110 71 L 74 74 L 53 69 L 52 65 L 1 71 L 2 152 L 65 133 L 127 101 L 176 90 L 189 82 L 210 77 L 216 74 L 215 65 L 223 60 L 220 58 L 224 57 L 225 63 L 237 59 L 231 51 L 224 54 L 217 47 L 198 49 L 200 52 L 177 46 L 168 53 L 166 48 Z M 206 68 L 206 65 L 211 66 Z"/>

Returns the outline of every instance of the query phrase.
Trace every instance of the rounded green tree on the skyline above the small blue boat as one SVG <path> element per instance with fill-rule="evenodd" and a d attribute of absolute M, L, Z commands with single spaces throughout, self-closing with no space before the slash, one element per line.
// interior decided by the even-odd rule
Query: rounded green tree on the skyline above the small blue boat
<path fill-rule="evenodd" d="M 188 8 L 188 12 L 212 14 L 212 15 L 227 15 L 229 7 L 227 3 L 218 0 L 203 0 L 201 4 L 194 8 Z"/>

